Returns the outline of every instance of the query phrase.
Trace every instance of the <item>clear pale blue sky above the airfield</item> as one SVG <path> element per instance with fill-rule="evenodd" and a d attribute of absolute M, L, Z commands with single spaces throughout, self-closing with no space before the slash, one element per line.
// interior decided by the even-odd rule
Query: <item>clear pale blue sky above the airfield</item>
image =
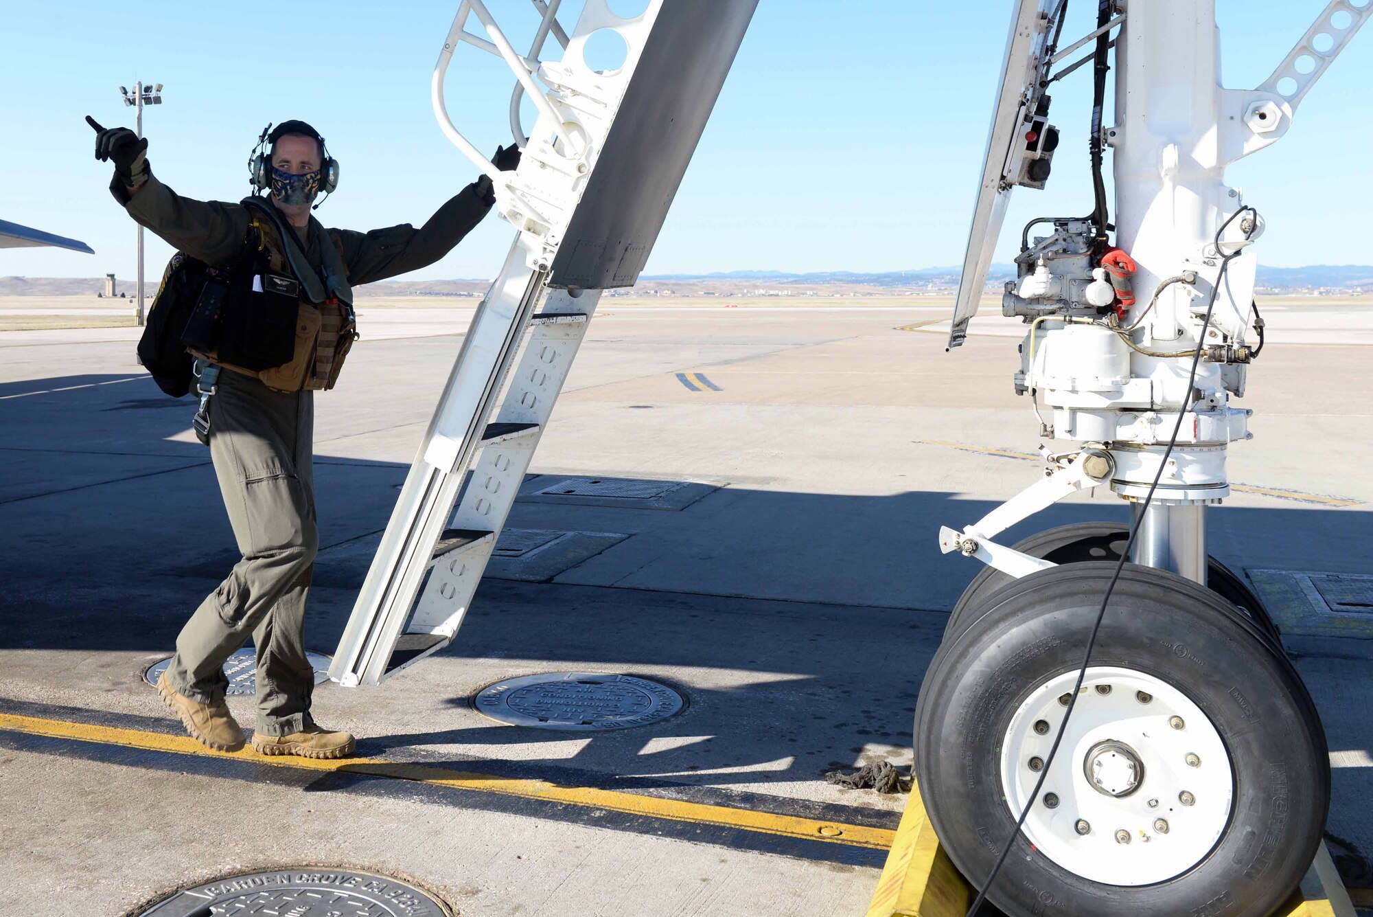
<path fill-rule="evenodd" d="M 673 0 L 686 1 L 686 0 Z M 0 275 L 132 277 L 133 224 L 110 198 L 82 115 L 128 124 L 118 86 L 165 84 L 144 130 L 158 176 L 178 192 L 236 200 L 268 121 L 303 118 L 342 163 L 317 213 L 356 229 L 423 222 L 474 170 L 443 139 L 428 78 L 456 0 L 10 3 L 0 32 L 0 218 L 96 250 L 0 250 Z M 762 0 L 648 273 L 892 270 L 957 264 L 980 169 L 1009 0 Z M 1065 37 L 1094 5 L 1070 4 Z M 1325 0 L 1218 0 L 1225 81 L 1271 71 Z M 578 0 L 567 0 L 573 22 Z M 526 0 L 493 0 L 534 23 Z M 474 23 L 475 25 L 475 23 Z M 1086 211 L 1087 73 L 1054 92 L 1064 141 L 1045 192 L 1019 191 L 1008 227 Z M 1292 132 L 1230 172 L 1267 218 L 1271 265 L 1369 264 L 1373 27 L 1307 96 Z M 511 77 L 464 48 L 449 76 L 454 121 L 483 148 L 508 141 Z M 512 229 L 487 220 L 416 277 L 489 277 Z M 1005 233 L 1001 258 L 1013 251 Z M 147 275 L 170 248 L 150 237 Z"/>

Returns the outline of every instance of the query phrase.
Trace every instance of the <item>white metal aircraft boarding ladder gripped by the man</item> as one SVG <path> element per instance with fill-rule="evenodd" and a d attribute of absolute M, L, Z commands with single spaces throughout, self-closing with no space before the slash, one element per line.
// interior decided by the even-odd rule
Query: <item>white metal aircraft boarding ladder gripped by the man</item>
<path fill-rule="evenodd" d="M 529 56 L 520 56 L 482 0 L 463 0 L 434 69 L 439 126 L 492 178 L 496 210 L 518 232 L 472 317 L 339 641 L 330 677 L 345 686 L 379 684 L 452 642 L 600 292 L 637 279 L 757 4 L 649 0 L 623 19 L 607 0 L 586 0 L 567 34 L 556 21 L 560 1 L 533 0 L 541 22 Z M 465 30 L 470 15 L 486 38 Z M 627 54 L 619 69 L 596 71 L 582 52 L 607 29 Z M 549 34 L 564 48 L 562 60 L 538 59 Z M 511 128 L 523 147 L 515 172 L 498 172 L 448 115 L 443 77 L 460 43 L 515 71 Z M 627 92 L 641 60 L 649 78 Z M 538 110 L 527 137 L 522 96 Z M 622 107 L 629 126 L 616 139 Z M 665 107 L 684 117 L 663 125 Z M 596 173 L 603 161 L 608 176 Z M 563 288 L 548 290 L 535 313 L 551 280 Z"/>

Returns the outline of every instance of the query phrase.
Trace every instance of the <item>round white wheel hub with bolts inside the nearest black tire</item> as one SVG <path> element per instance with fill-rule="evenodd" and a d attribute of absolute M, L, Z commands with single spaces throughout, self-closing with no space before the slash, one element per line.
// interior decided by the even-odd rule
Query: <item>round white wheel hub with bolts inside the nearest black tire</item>
<path fill-rule="evenodd" d="M 1001 743 L 1011 817 L 1028 804 L 1026 839 L 1083 879 L 1151 885 L 1184 874 L 1230 821 L 1234 770 L 1225 743 L 1163 678 L 1093 666 L 1049 762 L 1076 677 L 1048 680 L 1011 715 Z"/>

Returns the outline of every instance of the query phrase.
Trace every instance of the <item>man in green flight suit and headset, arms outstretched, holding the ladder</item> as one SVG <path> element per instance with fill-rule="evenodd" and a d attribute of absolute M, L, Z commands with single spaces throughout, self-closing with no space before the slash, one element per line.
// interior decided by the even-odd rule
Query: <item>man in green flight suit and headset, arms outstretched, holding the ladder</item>
<path fill-rule="evenodd" d="M 269 755 L 350 755 L 353 736 L 321 729 L 310 717 L 314 671 L 305 656 L 303 626 L 319 548 L 313 397 L 334 386 L 356 336 L 351 286 L 446 255 L 494 203 L 492 181 L 481 176 L 419 229 L 402 224 L 367 233 L 325 231 L 310 216 L 310 203 L 321 187 L 332 191 L 338 165 L 303 121 L 287 121 L 266 135 L 270 147 L 255 163 L 257 187 L 270 189 L 275 214 L 183 198 L 152 174 L 146 139 L 86 121 L 97 132 L 96 158 L 114 163 L 110 191 L 133 220 L 211 268 L 242 264 L 255 239 L 277 273 L 255 276 L 253 290 L 261 292 L 262 280 L 290 295 L 299 290 L 288 362 L 253 371 L 218 360 L 214 351 L 192 350 L 200 357 L 198 368 L 218 368 L 207 404 L 209 446 L 242 560 L 183 627 L 158 692 L 191 736 L 220 751 L 242 748 L 243 733 L 224 703 L 222 664 L 251 637 L 257 647 L 253 747 Z M 519 150 L 497 151 L 494 163 L 514 169 Z"/>

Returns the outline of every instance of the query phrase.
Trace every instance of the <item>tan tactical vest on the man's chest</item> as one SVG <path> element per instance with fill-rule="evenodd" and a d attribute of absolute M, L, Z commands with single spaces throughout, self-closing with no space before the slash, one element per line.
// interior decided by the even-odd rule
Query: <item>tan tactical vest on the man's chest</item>
<path fill-rule="evenodd" d="M 341 302 L 335 297 L 320 297 L 321 302 L 319 305 L 310 302 L 306 294 L 306 277 L 302 275 L 309 272 L 309 279 L 316 280 L 314 286 L 319 286 L 319 281 L 314 277 L 313 269 L 305 264 L 303 253 L 294 259 L 292 266 L 291 251 L 287 246 L 294 244 L 295 240 L 287 242 L 281 239 L 270 220 L 262 220 L 257 213 L 250 211 L 250 214 L 253 227 L 258 231 L 259 247 L 268 253 L 270 269 L 276 273 L 295 276 L 302 281 L 301 309 L 295 318 L 295 353 L 291 356 L 290 362 L 262 371 L 244 369 L 243 367 L 224 362 L 213 350 L 199 353 L 192 349 L 191 353 L 225 369 L 261 379 L 262 384 L 275 391 L 319 391 L 332 388 L 338 382 L 339 371 L 343 369 L 343 361 L 347 358 L 353 342 L 358 336 L 351 305 Z M 317 242 L 324 243 L 323 236 L 325 231 L 319 228 L 313 218 L 310 220 L 310 232 L 317 232 Z M 332 268 L 336 276 L 343 279 L 346 288 L 347 265 L 343 262 L 343 246 L 336 233 L 328 232 L 327 235 L 328 242 L 332 244 L 320 244 L 320 259 L 327 268 Z M 297 246 L 297 251 L 299 251 L 299 246 Z M 346 288 L 346 294 L 351 295 L 351 290 Z"/>

